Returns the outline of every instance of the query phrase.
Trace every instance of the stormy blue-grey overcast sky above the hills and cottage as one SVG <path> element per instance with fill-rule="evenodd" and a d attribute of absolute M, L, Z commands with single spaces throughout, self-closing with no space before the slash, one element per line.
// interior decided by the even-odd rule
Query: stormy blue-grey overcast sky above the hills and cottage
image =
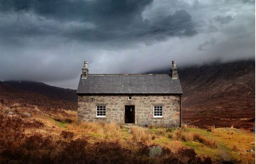
<path fill-rule="evenodd" d="M 89 73 L 254 59 L 250 0 L 0 0 L 0 80 L 77 88 Z"/>

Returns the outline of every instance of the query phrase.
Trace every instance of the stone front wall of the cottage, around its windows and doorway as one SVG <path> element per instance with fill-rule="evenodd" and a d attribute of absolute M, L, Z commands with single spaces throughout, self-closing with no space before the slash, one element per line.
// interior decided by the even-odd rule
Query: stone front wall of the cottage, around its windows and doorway
<path fill-rule="evenodd" d="M 125 105 L 135 106 L 135 124 L 139 126 L 180 126 L 180 95 L 78 95 L 78 121 L 105 121 L 124 124 Z M 106 117 L 96 117 L 96 106 L 106 105 Z M 163 106 L 163 117 L 153 117 L 153 107 Z"/>

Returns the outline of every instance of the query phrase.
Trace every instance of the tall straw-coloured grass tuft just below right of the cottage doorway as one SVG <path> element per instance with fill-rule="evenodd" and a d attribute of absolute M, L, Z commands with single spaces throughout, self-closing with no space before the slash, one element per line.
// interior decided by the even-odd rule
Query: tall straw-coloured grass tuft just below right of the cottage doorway
<path fill-rule="evenodd" d="M 149 144 L 152 139 L 152 135 L 147 128 L 142 127 L 131 127 L 132 140 L 136 142 L 143 142 L 144 144 Z"/>

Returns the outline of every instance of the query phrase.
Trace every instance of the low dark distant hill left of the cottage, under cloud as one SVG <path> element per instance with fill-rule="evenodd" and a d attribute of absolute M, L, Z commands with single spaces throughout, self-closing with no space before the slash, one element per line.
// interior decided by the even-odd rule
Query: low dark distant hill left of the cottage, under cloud
<path fill-rule="evenodd" d="M 26 92 L 33 92 L 53 99 L 77 102 L 76 90 L 50 86 L 34 81 L 3 81 L 4 84 Z"/>

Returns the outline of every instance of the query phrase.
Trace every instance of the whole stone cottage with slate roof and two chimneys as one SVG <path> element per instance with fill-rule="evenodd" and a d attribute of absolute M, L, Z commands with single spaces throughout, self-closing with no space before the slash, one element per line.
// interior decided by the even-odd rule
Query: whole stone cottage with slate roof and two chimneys
<path fill-rule="evenodd" d="M 176 61 L 170 74 L 89 74 L 84 61 L 78 121 L 180 127 L 182 94 Z"/>

